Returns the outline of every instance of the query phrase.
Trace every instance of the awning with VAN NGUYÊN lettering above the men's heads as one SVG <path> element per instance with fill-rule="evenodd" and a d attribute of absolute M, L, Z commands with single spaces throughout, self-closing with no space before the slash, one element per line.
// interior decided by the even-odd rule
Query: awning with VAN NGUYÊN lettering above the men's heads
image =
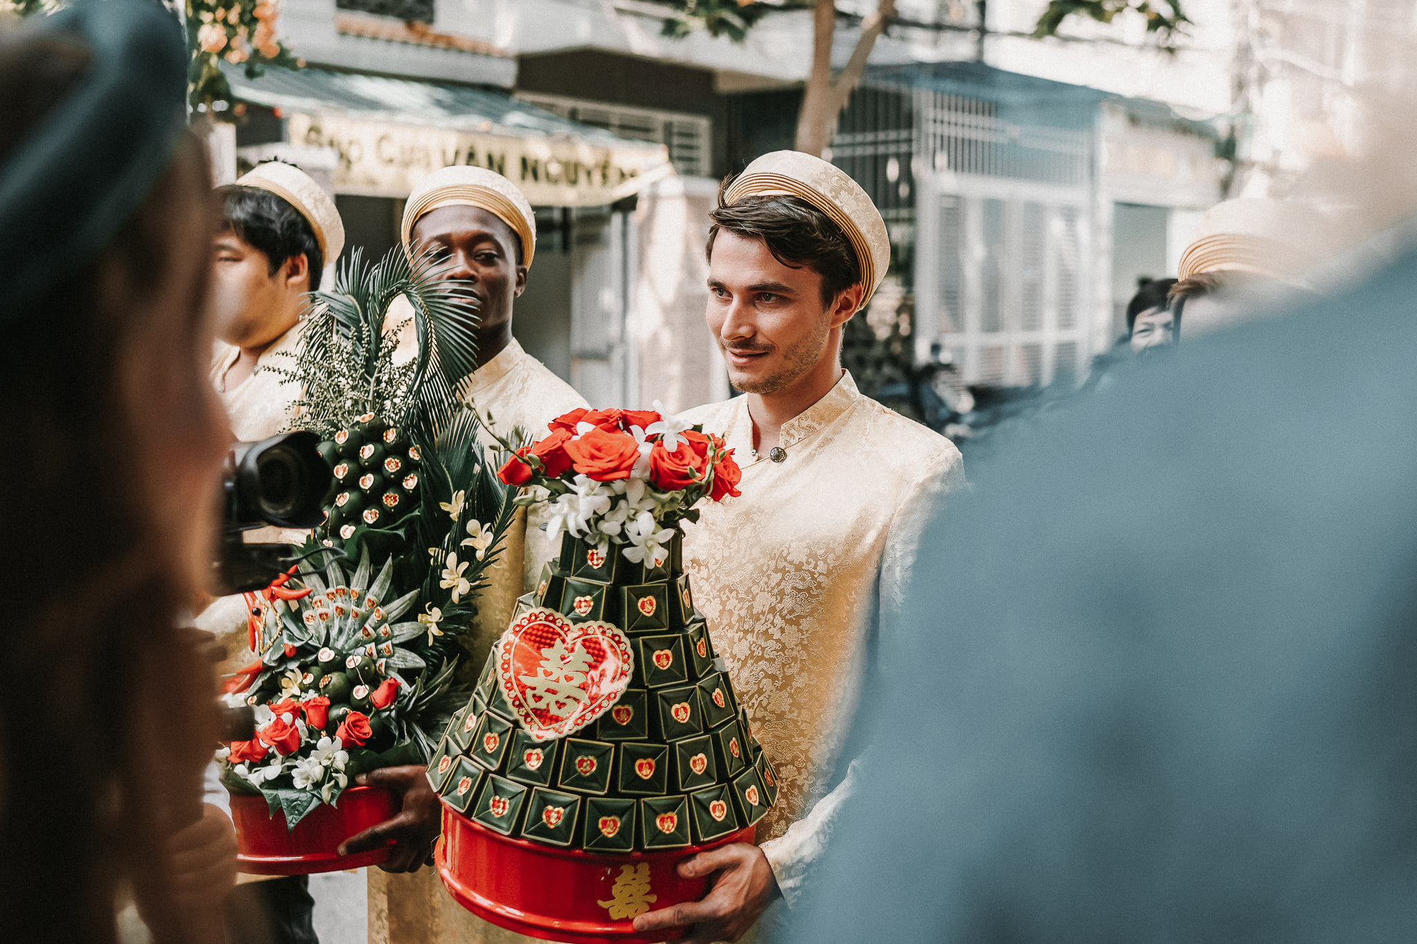
<path fill-rule="evenodd" d="M 538 207 L 597 207 L 673 173 L 663 144 L 560 117 L 506 92 L 326 69 L 222 62 L 235 100 L 281 109 L 289 142 L 339 154 L 334 190 L 407 197 L 448 164 L 487 167 Z"/>

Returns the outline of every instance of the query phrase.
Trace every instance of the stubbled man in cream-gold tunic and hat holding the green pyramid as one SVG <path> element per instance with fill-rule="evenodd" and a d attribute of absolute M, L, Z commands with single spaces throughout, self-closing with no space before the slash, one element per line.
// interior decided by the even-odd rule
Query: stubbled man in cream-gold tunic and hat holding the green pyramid
<path fill-rule="evenodd" d="M 743 396 L 683 413 L 720 432 L 743 494 L 684 528 L 684 572 L 734 689 L 778 774 L 761 845 L 680 863 L 708 894 L 635 919 L 639 933 L 737 941 L 779 896 L 791 906 L 853 790 L 845 740 L 920 528 L 962 484 L 948 439 L 856 389 L 846 323 L 870 300 L 890 239 L 870 197 L 811 154 L 765 154 L 724 181 L 704 253 L 704 318 Z M 839 769 L 845 769 L 845 774 Z"/>

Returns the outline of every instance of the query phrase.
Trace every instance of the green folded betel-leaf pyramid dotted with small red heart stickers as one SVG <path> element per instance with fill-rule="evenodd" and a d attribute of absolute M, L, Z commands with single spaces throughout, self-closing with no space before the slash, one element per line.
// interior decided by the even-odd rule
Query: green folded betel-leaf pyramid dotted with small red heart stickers
<path fill-rule="evenodd" d="M 676 535 L 663 565 L 564 535 L 517 620 L 537 607 L 629 638 L 629 686 L 598 719 L 537 740 L 499 684 L 497 650 L 428 767 L 449 807 L 503 835 L 597 853 L 677 849 L 758 822 L 777 774 L 693 606 Z"/>

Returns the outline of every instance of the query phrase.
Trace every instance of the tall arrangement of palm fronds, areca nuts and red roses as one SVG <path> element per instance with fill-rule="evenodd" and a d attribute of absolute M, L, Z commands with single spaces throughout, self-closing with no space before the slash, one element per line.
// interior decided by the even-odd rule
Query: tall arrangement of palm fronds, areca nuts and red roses
<path fill-rule="evenodd" d="M 475 367 L 476 303 L 436 277 L 435 258 L 354 253 L 303 316 L 293 427 L 322 437 L 332 470 L 324 522 L 292 568 L 247 596 L 256 661 L 228 682 L 255 712 L 255 737 L 218 759 L 234 793 L 261 793 L 293 828 L 366 770 L 427 763 L 470 688 L 455 668 L 486 568 L 516 505 L 456 395 Z M 395 362 L 414 309 L 418 354 Z M 357 562 L 353 568 L 349 565 Z"/>

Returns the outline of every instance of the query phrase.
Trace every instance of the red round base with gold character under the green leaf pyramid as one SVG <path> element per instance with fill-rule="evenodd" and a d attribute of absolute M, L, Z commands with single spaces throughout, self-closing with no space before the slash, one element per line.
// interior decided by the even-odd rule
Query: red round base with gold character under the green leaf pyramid
<path fill-rule="evenodd" d="M 629 917 L 615 920 L 601 904 L 615 900 L 615 880 L 623 866 L 649 865 L 649 890 L 655 902 L 646 910 L 697 902 L 708 892 L 708 879 L 680 877 L 679 863 L 704 849 L 752 842 L 752 832 L 748 827 L 687 849 L 594 855 L 509 839 L 444 807 L 438 875 L 465 909 L 519 934 L 565 944 L 672 941 L 683 937 L 687 928 L 640 936 Z"/>

